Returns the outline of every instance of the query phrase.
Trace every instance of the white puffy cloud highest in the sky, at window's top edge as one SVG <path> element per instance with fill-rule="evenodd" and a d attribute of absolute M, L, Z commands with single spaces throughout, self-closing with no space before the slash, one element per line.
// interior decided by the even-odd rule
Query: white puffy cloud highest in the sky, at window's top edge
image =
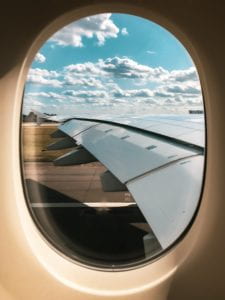
<path fill-rule="evenodd" d="M 102 46 L 108 38 L 117 38 L 119 28 L 110 19 L 111 14 L 99 14 L 76 21 L 58 32 L 51 41 L 60 46 L 83 47 L 83 37 L 96 37 Z"/>

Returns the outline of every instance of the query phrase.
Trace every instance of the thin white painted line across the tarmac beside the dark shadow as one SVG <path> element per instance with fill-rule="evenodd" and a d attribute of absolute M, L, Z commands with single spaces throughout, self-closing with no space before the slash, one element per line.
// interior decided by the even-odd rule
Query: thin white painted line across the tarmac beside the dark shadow
<path fill-rule="evenodd" d="M 136 205 L 135 202 L 84 202 L 84 203 L 64 203 L 64 202 L 56 202 L 56 203 L 43 203 L 43 202 L 36 202 L 30 203 L 30 206 L 33 208 L 48 208 L 48 207 L 126 207 L 129 205 Z"/>

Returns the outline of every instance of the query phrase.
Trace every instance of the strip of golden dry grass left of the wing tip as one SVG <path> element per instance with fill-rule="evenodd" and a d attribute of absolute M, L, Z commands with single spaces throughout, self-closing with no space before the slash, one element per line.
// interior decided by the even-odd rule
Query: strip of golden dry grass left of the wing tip
<path fill-rule="evenodd" d="M 25 162 L 50 162 L 68 152 L 66 150 L 43 151 L 46 146 L 59 139 L 53 139 L 50 134 L 56 131 L 56 124 L 35 125 L 25 123 L 22 126 L 22 155 Z"/>

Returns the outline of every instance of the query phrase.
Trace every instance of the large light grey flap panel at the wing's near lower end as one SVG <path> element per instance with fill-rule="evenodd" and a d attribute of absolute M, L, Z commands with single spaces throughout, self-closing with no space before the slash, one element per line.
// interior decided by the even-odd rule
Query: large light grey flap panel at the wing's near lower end
<path fill-rule="evenodd" d="M 194 215 L 203 165 L 202 155 L 183 159 L 127 184 L 164 249 L 181 235 Z"/>

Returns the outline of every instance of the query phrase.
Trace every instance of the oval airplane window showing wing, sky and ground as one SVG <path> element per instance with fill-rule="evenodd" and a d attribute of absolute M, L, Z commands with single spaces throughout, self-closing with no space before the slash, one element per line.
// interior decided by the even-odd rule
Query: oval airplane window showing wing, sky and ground
<path fill-rule="evenodd" d="M 166 29 L 103 13 L 48 39 L 25 84 L 28 208 L 56 251 L 89 267 L 140 266 L 184 237 L 204 173 L 195 65 Z"/>

